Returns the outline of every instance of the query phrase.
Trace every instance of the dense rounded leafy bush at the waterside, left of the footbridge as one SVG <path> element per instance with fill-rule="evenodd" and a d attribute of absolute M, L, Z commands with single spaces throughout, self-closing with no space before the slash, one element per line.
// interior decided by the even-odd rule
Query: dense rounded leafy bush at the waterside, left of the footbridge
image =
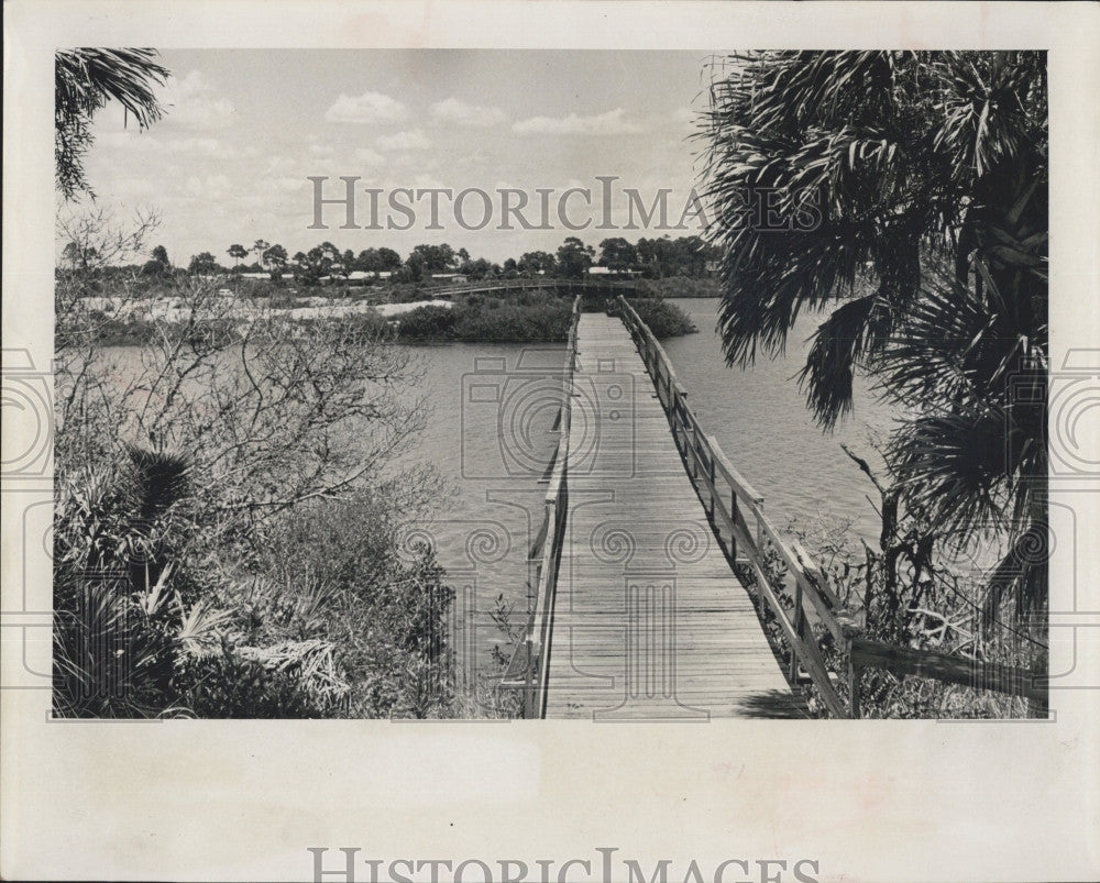
<path fill-rule="evenodd" d="M 435 552 L 405 542 L 406 522 L 380 497 L 326 500 L 278 526 L 270 548 L 297 553 L 262 562 L 248 637 L 331 644 L 352 717 L 451 716 L 454 593 Z"/>

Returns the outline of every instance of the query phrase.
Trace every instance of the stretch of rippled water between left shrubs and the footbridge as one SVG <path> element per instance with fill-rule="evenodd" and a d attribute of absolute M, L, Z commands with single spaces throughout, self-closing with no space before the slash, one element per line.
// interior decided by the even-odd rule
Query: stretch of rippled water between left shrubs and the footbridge
<path fill-rule="evenodd" d="M 504 636 L 497 599 L 527 621 L 527 561 L 544 511 L 547 464 L 558 444 L 563 345 L 453 343 L 418 346 L 420 393 L 431 417 L 409 461 L 431 464 L 448 486 L 430 542 L 455 590 L 460 672 L 492 671 Z"/>

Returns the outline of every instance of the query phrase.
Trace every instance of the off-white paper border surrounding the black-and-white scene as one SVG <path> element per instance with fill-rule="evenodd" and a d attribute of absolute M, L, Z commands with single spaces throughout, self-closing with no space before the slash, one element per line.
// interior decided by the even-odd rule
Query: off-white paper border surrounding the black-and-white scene
<path fill-rule="evenodd" d="M 3 341 L 38 366 L 53 332 L 53 48 L 65 45 L 1049 48 L 1055 366 L 1100 346 L 1100 5 L 15 0 L 4 20 Z M 6 442 L 19 431 L 6 424 Z M 6 611 L 23 580 L 10 489 Z M 1086 490 L 1071 498 L 1082 538 L 1098 523 Z M 1100 609 L 1096 550 L 1058 555 L 1052 608 L 1071 609 L 1062 577 L 1075 567 Z M 38 589 L 40 558 L 26 571 Z M 1056 647 L 1054 671 L 1071 650 Z M 1100 628 L 1078 630 L 1076 654 L 1100 685 Z M 6 651 L 4 675 L 18 664 Z M 0 872 L 296 880 L 311 873 L 310 846 L 559 862 L 614 846 L 681 873 L 691 859 L 812 858 L 821 880 L 1100 879 L 1096 691 L 1057 692 L 1054 724 L 636 727 L 51 724 L 45 693 L 3 691 Z"/>

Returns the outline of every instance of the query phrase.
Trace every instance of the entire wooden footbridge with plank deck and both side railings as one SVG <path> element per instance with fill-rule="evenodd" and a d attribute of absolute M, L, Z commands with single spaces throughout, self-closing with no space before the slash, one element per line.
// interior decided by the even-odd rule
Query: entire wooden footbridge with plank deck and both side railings
<path fill-rule="evenodd" d="M 862 639 L 704 432 L 650 330 L 614 303 L 574 300 L 529 619 L 501 682 L 525 717 L 798 718 L 805 695 L 815 716 L 859 717 L 866 667 L 1045 700 L 1026 673 Z"/>

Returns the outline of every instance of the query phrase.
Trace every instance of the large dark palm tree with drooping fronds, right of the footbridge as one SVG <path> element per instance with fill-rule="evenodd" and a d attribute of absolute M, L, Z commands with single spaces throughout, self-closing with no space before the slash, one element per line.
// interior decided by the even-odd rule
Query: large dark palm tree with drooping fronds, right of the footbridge
<path fill-rule="evenodd" d="M 1045 566 L 1019 562 L 1045 523 L 1044 54 L 767 52 L 727 70 L 705 131 L 727 361 L 832 307 L 800 375 L 815 418 L 850 410 L 856 372 L 915 409 L 889 450 L 908 501 L 945 539 L 1009 531 L 990 600 L 1041 603 Z M 761 201 L 781 223 L 754 222 Z"/>

